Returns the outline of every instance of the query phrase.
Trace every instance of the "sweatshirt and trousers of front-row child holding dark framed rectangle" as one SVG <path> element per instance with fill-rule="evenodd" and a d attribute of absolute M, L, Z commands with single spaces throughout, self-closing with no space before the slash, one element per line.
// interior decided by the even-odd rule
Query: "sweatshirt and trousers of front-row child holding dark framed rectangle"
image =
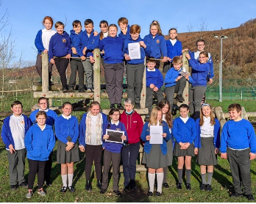
<path fill-rule="evenodd" d="M 110 125 L 110 128 L 108 128 Z M 127 130 L 124 126 L 124 123 L 118 121 L 118 123 L 113 123 L 112 121 L 107 123 L 104 128 L 104 134 L 106 134 L 106 129 L 115 130 L 115 131 L 124 131 L 124 135 L 127 136 Z M 103 134 L 103 135 L 104 135 Z M 103 136 L 102 136 L 103 138 Z M 124 142 L 128 142 L 127 140 Z M 103 174 L 102 174 L 102 189 L 107 189 L 108 185 L 108 173 L 110 171 L 110 164 L 112 163 L 113 167 L 113 190 L 115 192 L 118 191 L 118 177 L 119 177 L 119 165 L 121 160 L 121 148 L 124 146 L 123 144 L 115 143 L 115 142 L 105 142 L 103 141 L 102 146 L 104 147 L 104 156 L 103 156 Z"/>

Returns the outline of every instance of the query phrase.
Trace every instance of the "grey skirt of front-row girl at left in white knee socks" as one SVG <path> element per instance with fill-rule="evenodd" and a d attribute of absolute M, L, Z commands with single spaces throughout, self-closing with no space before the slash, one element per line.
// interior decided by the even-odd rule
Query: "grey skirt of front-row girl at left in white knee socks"
<path fill-rule="evenodd" d="M 71 142 L 71 137 L 68 136 L 68 142 Z M 70 151 L 66 151 L 65 147 L 67 147 L 65 143 L 58 141 L 58 147 L 57 147 L 57 164 L 65 164 L 65 163 L 71 163 L 79 161 L 79 151 L 77 143 L 74 145 L 74 147 Z"/>

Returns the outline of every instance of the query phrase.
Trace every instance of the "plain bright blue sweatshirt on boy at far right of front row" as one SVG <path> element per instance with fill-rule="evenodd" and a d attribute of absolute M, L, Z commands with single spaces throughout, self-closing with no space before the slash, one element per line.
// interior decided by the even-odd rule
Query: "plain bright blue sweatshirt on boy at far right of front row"
<path fill-rule="evenodd" d="M 251 153 L 256 153 L 255 130 L 248 120 L 229 120 L 224 124 L 221 131 L 221 153 L 227 153 L 227 147 L 235 150 L 250 148 Z"/>

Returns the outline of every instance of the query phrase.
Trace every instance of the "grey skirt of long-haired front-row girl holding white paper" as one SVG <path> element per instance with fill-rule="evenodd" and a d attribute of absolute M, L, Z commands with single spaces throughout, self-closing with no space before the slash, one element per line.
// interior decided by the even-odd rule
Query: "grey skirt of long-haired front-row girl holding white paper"
<path fill-rule="evenodd" d="M 160 145 L 157 144 L 152 145 L 149 153 L 143 152 L 142 163 L 155 170 L 169 165 L 167 153 L 163 155 Z"/>

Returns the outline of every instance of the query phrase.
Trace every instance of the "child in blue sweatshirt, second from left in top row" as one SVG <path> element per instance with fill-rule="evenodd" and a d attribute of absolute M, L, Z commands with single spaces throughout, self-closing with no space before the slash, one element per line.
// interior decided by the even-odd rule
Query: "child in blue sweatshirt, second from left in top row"
<path fill-rule="evenodd" d="M 51 37 L 49 44 L 49 62 L 51 62 L 52 65 L 56 65 L 60 73 L 63 92 L 68 92 L 65 70 L 68 68 L 68 62 L 71 58 L 71 42 L 69 34 L 64 31 L 64 24 L 62 22 L 58 21 L 55 23 L 55 29 L 57 33 Z"/>

